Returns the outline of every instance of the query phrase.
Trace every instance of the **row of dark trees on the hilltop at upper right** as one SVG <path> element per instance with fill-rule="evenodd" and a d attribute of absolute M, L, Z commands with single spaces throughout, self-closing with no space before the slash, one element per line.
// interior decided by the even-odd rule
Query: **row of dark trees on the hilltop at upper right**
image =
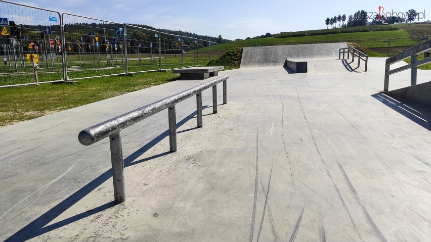
<path fill-rule="evenodd" d="M 368 16 L 368 12 L 364 10 L 360 10 L 356 12 L 353 15 L 349 15 L 349 18 L 346 18 L 346 14 L 338 15 L 334 17 L 328 17 L 325 19 L 326 28 L 329 29 L 329 25 L 331 28 L 336 28 L 338 23 L 338 28 L 347 28 L 347 27 L 355 27 L 355 26 L 363 26 L 370 24 L 396 24 L 396 23 L 408 23 L 411 21 L 414 21 L 415 18 L 418 16 L 418 13 L 411 9 L 407 11 L 405 14 L 402 14 L 402 16 L 391 16 L 387 17 L 382 14 L 379 16 L 379 14 L 376 14 L 374 18 L 370 18 Z M 372 19 L 371 22 L 368 22 L 369 19 Z M 347 23 L 345 23 L 347 20 Z M 341 24 L 342 22 L 342 24 Z"/>

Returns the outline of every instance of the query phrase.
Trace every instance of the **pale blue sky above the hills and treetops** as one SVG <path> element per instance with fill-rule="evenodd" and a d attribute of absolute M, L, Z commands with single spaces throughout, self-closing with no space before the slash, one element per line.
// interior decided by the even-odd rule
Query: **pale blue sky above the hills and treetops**
<path fill-rule="evenodd" d="M 156 28 L 183 30 L 201 35 L 236 39 L 326 28 L 325 19 L 358 10 L 400 13 L 409 9 L 424 12 L 431 20 L 431 1 L 171 1 L 171 0 L 37 0 L 15 3 L 55 10 L 60 13 L 94 17 Z"/>

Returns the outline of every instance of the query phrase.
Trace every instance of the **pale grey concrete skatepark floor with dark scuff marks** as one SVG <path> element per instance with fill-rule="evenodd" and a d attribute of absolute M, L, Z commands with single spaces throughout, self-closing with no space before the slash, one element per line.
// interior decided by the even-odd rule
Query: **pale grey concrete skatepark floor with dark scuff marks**
<path fill-rule="evenodd" d="M 429 241 L 431 109 L 392 99 L 384 58 L 336 58 L 228 74 L 228 104 L 203 92 L 122 134 L 126 201 L 108 140 L 80 130 L 204 81 L 160 86 L 0 128 L 0 239 L 7 241 Z M 332 68 L 332 71 L 327 71 Z M 322 70 L 322 71 L 319 71 Z M 326 71 L 325 71 L 326 70 Z M 390 89 L 409 84 L 391 76 Z M 418 70 L 418 82 L 429 71 Z M 219 87 L 219 104 L 222 91 Z"/>

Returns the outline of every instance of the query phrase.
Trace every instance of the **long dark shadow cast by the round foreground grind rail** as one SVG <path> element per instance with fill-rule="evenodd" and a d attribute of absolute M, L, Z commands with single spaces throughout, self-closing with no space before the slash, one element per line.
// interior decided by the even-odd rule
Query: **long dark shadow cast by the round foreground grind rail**
<path fill-rule="evenodd" d="M 202 109 L 208 108 L 208 106 L 203 106 Z M 177 123 L 177 127 L 181 127 L 183 124 L 185 124 L 190 119 L 194 118 L 196 116 L 196 111 L 181 120 Z M 192 130 L 192 129 L 190 129 Z M 184 130 L 183 132 L 188 131 Z M 124 167 L 130 167 L 136 164 L 140 164 L 145 161 L 149 161 L 158 157 L 165 156 L 167 154 L 170 154 L 169 151 L 148 157 L 139 161 L 135 161 L 137 158 L 139 158 L 142 154 L 150 150 L 152 147 L 155 146 L 158 142 L 160 142 L 163 138 L 169 136 L 169 130 L 164 131 L 157 137 L 155 137 L 153 140 L 145 144 L 142 148 L 131 154 L 130 156 L 126 157 L 124 159 Z M 108 144 L 109 145 L 109 144 Z M 60 216 L 63 212 L 65 212 L 67 209 L 75 205 L 78 201 L 80 201 L 82 198 L 87 196 L 90 192 L 97 189 L 101 184 L 103 184 L 105 181 L 110 179 L 112 177 L 112 169 L 109 169 L 105 171 L 102 175 L 88 183 L 87 185 L 83 186 L 79 190 L 77 190 L 75 193 L 70 195 L 68 198 L 54 206 L 52 209 L 47 211 L 46 213 L 40 215 L 38 218 L 30 222 L 28 225 L 20 229 L 18 232 L 14 233 L 12 236 L 7 238 L 5 241 L 15 242 L 15 241 L 25 241 L 34 237 L 37 237 L 41 234 L 50 232 L 52 230 L 55 230 L 57 228 L 63 227 L 65 225 L 68 225 L 70 223 L 76 222 L 80 219 L 92 216 L 94 214 L 97 214 L 99 212 L 102 212 L 104 210 L 107 210 L 109 208 L 112 208 L 115 206 L 115 202 L 109 202 L 104 205 L 101 205 L 97 208 L 82 212 L 80 214 L 74 215 L 70 218 L 64 219 L 62 221 L 56 222 L 54 224 L 51 224 L 47 226 L 51 221 L 56 219 L 58 216 Z"/>

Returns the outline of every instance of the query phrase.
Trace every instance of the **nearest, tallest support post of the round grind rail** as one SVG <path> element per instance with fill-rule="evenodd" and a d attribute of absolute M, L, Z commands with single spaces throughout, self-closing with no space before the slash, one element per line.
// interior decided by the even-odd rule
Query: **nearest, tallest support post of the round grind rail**
<path fill-rule="evenodd" d="M 120 132 L 109 136 L 111 148 L 112 180 L 114 182 L 114 199 L 117 204 L 125 201 L 124 162 Z"/>

